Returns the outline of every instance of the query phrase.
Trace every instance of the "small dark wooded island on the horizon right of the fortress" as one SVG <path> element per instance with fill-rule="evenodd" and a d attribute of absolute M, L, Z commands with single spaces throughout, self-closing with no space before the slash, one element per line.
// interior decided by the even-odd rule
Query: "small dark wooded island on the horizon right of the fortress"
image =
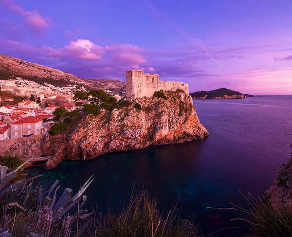
<path fill-rule="evenodd" d="M 220 88 L 213 91 L 197 91 L 190 93 L 193 99 L 245 99 L 255 97 L 250 94 L 243 94 L 238 91 L 232 91 L 227 88 Z"/>

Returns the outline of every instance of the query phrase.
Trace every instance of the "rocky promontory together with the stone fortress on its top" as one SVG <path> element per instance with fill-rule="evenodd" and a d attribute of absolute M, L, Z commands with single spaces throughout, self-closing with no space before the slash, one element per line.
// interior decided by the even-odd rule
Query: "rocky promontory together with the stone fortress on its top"
<path fill-rule="evenodd" d="M 157 74 L 143 71 L 127 71 L 127 76 L 126 98 L 115 108 L 102 106 L 98 113 L 86 113 L 83 108 L 61 133 L 17 139 L 0 148 L 26 159 L 50 155 L 46 168 L 54 168 L 62 160 L 89 160 L 108 152 L 183 143 L 209 135 L 187 84 L 159 81 Z M 146 88 L 141 86 L 145 80 Z"/>

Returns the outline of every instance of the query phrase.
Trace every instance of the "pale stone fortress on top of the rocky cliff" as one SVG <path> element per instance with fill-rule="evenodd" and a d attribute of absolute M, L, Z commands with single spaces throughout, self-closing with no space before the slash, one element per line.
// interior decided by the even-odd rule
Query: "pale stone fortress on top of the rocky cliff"
<path fill-rule="evenodd" d="M 160 81 L 158 74 L 144 73 L 140 70 L 126 71 L 126 98 L 153 97 L 155 91 L 176 91 L 183 89 L 189 93 L 188 84 L 178 81 Z"/>

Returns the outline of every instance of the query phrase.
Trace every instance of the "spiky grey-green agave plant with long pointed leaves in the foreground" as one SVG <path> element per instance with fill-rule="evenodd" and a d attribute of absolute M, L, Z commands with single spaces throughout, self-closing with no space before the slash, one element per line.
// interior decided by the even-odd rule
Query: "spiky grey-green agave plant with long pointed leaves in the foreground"
<path fill-rule="evenodd" d="M 29 162 L 29 161 L 28 161 Z M 25 163 L 24 163 L 25 164 Z M 56 192 L 60 188 L 57 186 L 56 180 L 49 191 L 43 192 L 39 184 L 33 186 L 33 181 L 39 177 L 23 178 L 18 182 L 10 183 L 18 175 L 18 170 L 24 165 L 20 165 L 17 169 L 6 174 L 8 167 L 0 165 L 0 201 L 9 206 L 14 206 L 15 210 L 20 212 L 34 212 L 39 213 L 43 208 L 46 208 L 52 213 L 53 223 L 58 219 L 69 213 L 70 209 L 78 204 L 78 210 L 70 218 L 70 226 L 76 223 L 77 219 L 86 219 L 92 213 L 87 213 L 87 210 L 81 210 L 82 206 L 87 200 L 87 196 L 83 195 L 85 190 L 93 181 L 92 176 L 87 182 L 83 184 L 80 190 L 73 196 L 73 190 L 65 188 L 61 197 L 56 200 Z M 41 175 L 40 175 L 41 176 Z M 44 197 L 44 198 L 43 198 Z M 4 205 L 5 205 L 4 204 Z M 4 206 L 3 204 L 1 204 Z"/>

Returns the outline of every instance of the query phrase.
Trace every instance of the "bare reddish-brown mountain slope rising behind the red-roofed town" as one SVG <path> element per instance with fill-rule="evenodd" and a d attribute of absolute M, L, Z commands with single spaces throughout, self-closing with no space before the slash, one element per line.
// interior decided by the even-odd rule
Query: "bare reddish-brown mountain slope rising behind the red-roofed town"
<path fill-rule="evenodd" d="M 126 89 L 126 83 L 123 81 L 84 79 L 54 68 L 0 54 L 0 79 L 8 80 L 11 77 L 21 77 L 40 85 L 48 83 L 55 87 L 79 85 L 88 89 L 99 88 L 116 92 L 123 92 Z"/>

